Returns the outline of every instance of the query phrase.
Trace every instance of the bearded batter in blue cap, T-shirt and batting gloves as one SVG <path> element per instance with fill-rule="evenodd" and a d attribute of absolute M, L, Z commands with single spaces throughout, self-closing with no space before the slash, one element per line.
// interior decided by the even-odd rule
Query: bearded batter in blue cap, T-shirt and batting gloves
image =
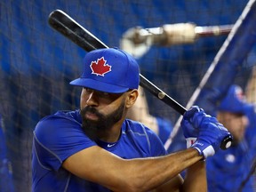
<path fill-rule="evenodd" d="M 125 119 L 138 97 L 138 63 L 116 48 L 88 52 L 80 109 L 45 116 L 34 131 L 32 191 L 206 191 L 204 160 L 230 132 L 196 106 L 184 114 L 187 149 L 166 155 L 156 133 Z M 179 172 L 188 169 L 182 180 Z"/>

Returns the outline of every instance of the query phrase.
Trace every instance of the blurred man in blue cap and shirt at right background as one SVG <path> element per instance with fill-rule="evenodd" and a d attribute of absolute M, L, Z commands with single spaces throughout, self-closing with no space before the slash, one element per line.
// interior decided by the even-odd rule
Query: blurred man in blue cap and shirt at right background
<path fill-rule="evenodd" d="M 256 113 L 255 106 L 244 99 L 240 86 L 229 88 L 220 102 L 217 118 L 231 132 L 234 142 L 228 150 L 220 150 L 207 159 L 209 192 L 254 191 L 253 178 L 247 176 L 256 159 Z"/>

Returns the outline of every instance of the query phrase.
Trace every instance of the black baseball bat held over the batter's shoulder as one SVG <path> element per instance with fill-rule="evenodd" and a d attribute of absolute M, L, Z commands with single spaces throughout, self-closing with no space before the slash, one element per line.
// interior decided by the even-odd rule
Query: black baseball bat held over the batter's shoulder
<path fill-rule="evenodd" d="M 52 28 L 66 36 L 72 42 L 82 47 L 86 52 L 100 48 L 108 48 L 108 46 L 100 41 L 96 36 L 92 35 L 87 29 L 83 28 L 76 20 L 73 20 L 67 13 L 61 10 L 55 10 L 50 13 L 48 22 Z M 155 84 L 151 83 L 145 76 L 140 74 L 140 86 L 151 92 L 159 100 L 164 101 L 165 104 L 175 109 L 180 115 L 184 115 L 187 111 L 180 103 L 173 100 L 168 94 L 163 92 Z M 230 138 L 222 140 L 221 148 L 229 147 Z"/>

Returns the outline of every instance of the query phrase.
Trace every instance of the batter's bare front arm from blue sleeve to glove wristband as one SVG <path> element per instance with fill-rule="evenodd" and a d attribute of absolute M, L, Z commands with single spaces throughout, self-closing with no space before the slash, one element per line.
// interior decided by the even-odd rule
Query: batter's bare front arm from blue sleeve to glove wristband
<path fill-rule="evenodd" d="M 200 159 L 196 149 L 188 148 L 168 156 L 124 160 L 94 146 L 69 156 L 62 166 L 113 191 L 148 191 L 172 180 Z"/>

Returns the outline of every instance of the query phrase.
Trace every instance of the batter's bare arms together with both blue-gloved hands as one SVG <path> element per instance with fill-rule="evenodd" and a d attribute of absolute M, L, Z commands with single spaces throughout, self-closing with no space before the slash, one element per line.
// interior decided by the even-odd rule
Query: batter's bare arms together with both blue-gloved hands
<path fill-rule="evenodd" d="M 91 180 L 113 191 L 156 189 L 190 167 L 184 189 L 190 191 L 190 187 L 194 186 L 195 190 L 200 187 L 201 191 L 207 187 L 204 163 L 196 162 L 213 156 L 220 148 L 221 140 L 230 136 L 230 132 L 216 118 L 207 116 L 199 108 L 190 108 L 184 114 L 181 126 L 186 138 L 194 136 L 192 129 L 198 136 L 191 147 L 183 151 L 168 156 L 124 160 L 93 146 L 69 156 L 62 166 L 84 180 Z"/>

